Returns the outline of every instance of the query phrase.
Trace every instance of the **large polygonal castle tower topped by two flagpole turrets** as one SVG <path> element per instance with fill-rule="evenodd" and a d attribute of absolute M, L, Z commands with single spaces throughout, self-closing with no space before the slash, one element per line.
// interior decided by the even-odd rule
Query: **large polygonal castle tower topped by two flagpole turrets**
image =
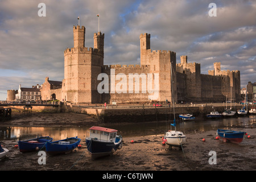
<path fill-rule="evenodd" d="M 64 51 L 64 80 L 61 98 L 77 104 L 100 103 L 97 92 L 104 61 L 104 34 L 94 34 L 94 49 L 85 45 L 85 27 L 74 26 L 74 47 Z"/>

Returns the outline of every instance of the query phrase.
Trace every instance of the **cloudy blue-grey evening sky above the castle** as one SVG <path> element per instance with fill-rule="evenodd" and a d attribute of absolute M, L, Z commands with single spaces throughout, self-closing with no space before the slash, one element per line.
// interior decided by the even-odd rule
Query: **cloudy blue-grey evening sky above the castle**
<path fill-rule="evenodd" d="M 40 3 L 46 16 L 39 16 Z M 187 55 L 208 74 L 221 62 L 221 70 L 240 71 L 241 88 L 256 82 L 254 0 L 0 0 L 0 101 L 19 84 L 63 80 L 64 50 L 73 47 L 78 16 L 88 48 L 100 21 L 105 65 L 140 64 L 139 35 L 148 33 L 151 49 L 176 52 L 176 63 Z"/>

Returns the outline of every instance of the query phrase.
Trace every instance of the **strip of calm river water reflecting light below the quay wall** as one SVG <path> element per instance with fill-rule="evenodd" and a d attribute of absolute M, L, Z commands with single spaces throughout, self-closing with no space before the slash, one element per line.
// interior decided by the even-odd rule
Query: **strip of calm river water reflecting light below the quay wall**
<path fill-rule="evenodd" d="M 191 133 L 194 131 L 210 131 L 218 128 L 227 128 L 231 126 L 245 127 L 256 124 L 256 115 L 246 117 L 206 119 L 196 117 L 195 121 L 181 121 L 177 119 L 177 130 Z M 151 134 L 164 134 L 170 129 L 165 121 L 145 122 L 145 123 L 112 123 L 105 124 L 104 127 L 117 129 L 123 137 L 145 136 Z M 67 137 L 78 137 L 82 140 L 86 137 L 86 131 L 89 127 L 0 127 L 0 140 L 18 140 L 30 139 L 36 136 L 49 136 L 53 140 L 60 140 Z M 172 128 L 174 129 L 174 128 Z"/>

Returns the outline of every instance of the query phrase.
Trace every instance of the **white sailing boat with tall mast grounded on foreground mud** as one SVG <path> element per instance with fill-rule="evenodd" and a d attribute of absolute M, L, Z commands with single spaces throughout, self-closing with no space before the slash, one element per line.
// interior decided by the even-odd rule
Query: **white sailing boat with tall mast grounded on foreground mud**
<path fill-rule="evenodd" d="M 174 89 L 172 85 L 172 63 L 171 63 L 171 89 L 172 89 L 172 104 L 174 106 Z M 187 143 L 187 137 L 181 132 L 176 131 L 176 122 L 175 122 L 175 107 L 174 107 L 174 123 L 171 124 L 174 126 L 175 130 L 168 130 L 164 134 L 164 139 L 166 140 L 166 144 L 169 146 L 181 147 L 184 143 Z"/>

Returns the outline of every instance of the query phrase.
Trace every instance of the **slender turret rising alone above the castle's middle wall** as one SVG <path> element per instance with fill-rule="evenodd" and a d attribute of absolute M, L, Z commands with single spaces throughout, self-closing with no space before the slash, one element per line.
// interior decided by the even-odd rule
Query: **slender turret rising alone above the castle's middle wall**
<path fill-rule="evenodd" d="M 141 42 L 141 65 L 149 65 L 150 60 L 148 59 L 147 52 L 150 52 L 150 34 L 141 34 L 139 36 Z"/>

